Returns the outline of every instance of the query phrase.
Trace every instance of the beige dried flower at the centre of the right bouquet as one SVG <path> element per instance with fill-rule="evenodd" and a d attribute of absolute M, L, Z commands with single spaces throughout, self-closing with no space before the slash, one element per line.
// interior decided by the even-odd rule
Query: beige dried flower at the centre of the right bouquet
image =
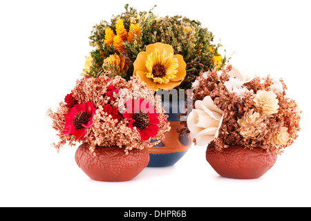
<path fill-rule="evenodd" d="M 265 131 L 264 119 L 265 115 L 260 115 L 258 112 L 253 113 L 253 110 L 251 110 L 245 114 L 245 117 L 238 119 L 238 125 L 240 126 L 238 131 L 243 137 L 256 137 Z"/>

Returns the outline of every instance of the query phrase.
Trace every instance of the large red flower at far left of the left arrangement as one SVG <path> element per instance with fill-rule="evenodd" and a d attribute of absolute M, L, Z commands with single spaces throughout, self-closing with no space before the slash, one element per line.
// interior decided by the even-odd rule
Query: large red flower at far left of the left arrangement
<path fill-rule="evenodd" d="M 83 140 L 86 135 L 86 128 L 93 126 L 93 116 L 96 108 L 92 102 L 76 104 L 70 108 L 65 116 L 66 122 L 63 134 L 73 134 L 77 139 Z"/>

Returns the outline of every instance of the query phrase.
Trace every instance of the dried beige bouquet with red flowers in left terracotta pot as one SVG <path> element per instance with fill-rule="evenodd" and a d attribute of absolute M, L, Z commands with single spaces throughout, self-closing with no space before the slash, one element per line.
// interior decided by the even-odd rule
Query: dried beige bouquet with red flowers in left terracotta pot
<path fill-rule="evenodd" d="M 77 80 L 57 111 L 48 110 L 59 132 L 60 141 L 53 143 L 57 151 L 67 142 L 70 146 L 84 142 L 92 153 L 97 146 L 117 146 L 128 153 L 153 146 L 169 131 L 160 97 L 153 90 L 135 77 L 126 81 L 110 74 Z"/>

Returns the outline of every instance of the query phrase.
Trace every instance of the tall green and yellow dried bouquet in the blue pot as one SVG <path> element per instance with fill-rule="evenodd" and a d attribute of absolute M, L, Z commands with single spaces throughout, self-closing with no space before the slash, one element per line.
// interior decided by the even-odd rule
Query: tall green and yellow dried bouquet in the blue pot
<path fill-rule="evenodd" d="M 212 44 L 214 35 L 200 21 L 187 17 L 158 17 L 152 10 L 126 12 L 101 21 L 89 37 L 95 47 L 86 57 L 84 77 L 105 71 L 126 80 L 136 75 L 152 90 L 191 88 L 200 70 L 220 69 L 226 58 Z"/>

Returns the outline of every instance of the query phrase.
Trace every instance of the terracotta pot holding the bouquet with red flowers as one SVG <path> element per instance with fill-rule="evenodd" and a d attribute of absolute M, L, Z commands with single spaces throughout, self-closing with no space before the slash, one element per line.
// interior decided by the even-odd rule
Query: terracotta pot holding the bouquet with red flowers
<path fill-rule="evenodd" d="M 147 166 L 149 153 L 144 148 L 126 155 L 124 148 L 98 146 L 93 155 L 88 144 L 82 144 L 75 153 L 75 162 L 92 180 L 120 182 L 137 176 Z"/>

